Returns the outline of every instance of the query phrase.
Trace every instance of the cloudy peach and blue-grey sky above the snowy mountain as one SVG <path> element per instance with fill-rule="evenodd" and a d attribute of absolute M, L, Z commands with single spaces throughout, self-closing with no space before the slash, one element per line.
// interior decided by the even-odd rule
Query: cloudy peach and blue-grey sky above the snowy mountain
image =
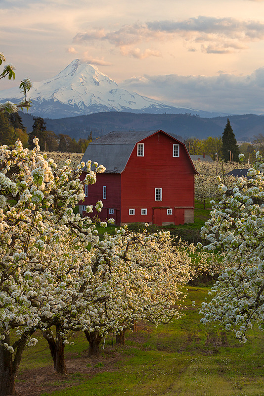
<path fill-rule="evenodd" d="M 0 20 L 0 90 L 78 58 L 175 106 L 264 113 L 264 0 L 1 0 Z"/>

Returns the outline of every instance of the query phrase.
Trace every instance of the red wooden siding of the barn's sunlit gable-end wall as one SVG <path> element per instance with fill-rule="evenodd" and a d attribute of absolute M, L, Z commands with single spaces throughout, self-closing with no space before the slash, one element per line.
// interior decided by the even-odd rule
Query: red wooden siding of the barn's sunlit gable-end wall
<path fill-rule="evenodd" d="M 140 143 L 144 156 L 137 156 L 135 145 L 121 174 L 121 223 L 184 223 L 184 208 L 194 207 L 194 169 L 186 148 L 179 143 L 179 157 L 173 157 L 177 142 L 162 132 Z M 155 200 L 155 188 L 162 188 L 162 201 Z M 134 215 L 129 215 L 130 208 Z M 147 215 L 141 215 L 142 208 L 147 208 Z M 173 215 L 167 215 L 167 208 Z"/>

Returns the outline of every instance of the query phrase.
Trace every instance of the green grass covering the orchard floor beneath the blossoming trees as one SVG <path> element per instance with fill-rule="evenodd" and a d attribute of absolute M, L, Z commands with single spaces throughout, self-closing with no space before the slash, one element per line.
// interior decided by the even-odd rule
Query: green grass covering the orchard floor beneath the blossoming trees
<path fill-rule="evenodd" d="M 207 292 L 206 288 L 189 288 L 185 316 L 157 328 L 139 324 L 137 332 L 127 335 L 125 347 L 112 349 L 109 335 L 106 351 L 122 353 L 115 371 L 105 371 L 102 356 L 101 364 L 91 364 L 99 367 L 98 374 L 87 379 L 77 372 L 64 380 L 68 386 L 79 385 L 42 396 L 264 395 L 264 334 L 255 328 L 242 345 L 215 324 L 204 327 L 198 310 Z M 75 341 L 66 347 L 66 354 L 78 358 L 88 345 L 83 335 L 76 335 Z M 48 355 L 41 341 L 26 351 L 21 371 L 51 364 Z"/>

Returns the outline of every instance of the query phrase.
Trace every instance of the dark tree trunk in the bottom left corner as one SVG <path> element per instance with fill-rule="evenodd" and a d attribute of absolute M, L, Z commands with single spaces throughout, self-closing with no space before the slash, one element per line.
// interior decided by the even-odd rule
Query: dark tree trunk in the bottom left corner
<path fill-rule="evenodd" d="M 15 376 L 12 353 L 0 345 L 0 396 L 16 394 Z"/>

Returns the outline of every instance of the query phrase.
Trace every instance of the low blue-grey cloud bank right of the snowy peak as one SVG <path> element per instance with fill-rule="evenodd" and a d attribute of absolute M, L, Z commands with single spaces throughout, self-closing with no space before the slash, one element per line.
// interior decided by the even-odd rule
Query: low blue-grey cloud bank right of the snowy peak
<path fill-rule="evenodd" d="M 264 67 L 247 76 L 221 70 L 218 73 L 218 76 L 144 75 L 131 77 L 119 86 L 178 107 L 264 114 Z"/>

